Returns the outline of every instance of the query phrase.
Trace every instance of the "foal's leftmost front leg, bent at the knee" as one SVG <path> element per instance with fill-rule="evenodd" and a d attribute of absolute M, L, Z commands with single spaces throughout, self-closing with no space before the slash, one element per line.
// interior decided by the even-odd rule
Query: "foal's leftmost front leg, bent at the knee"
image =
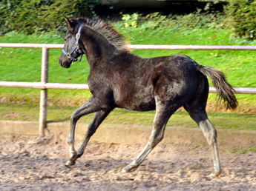
<path fill-rule="evenodd" d="M 82 107 L 74 110 L 70 118 L 70 133 L 68 135 L 70 159 L 67 161 L 66 165 L 75 164 L 76 158 L 79 157 L 74 147 L 76 122 L 83 115 L 88 115 L 99 110 L 102 110 L 102 107 L 99 104 L 99 101 L 96 101 L 93 96 L 84 105 L 82 105 Z"/>

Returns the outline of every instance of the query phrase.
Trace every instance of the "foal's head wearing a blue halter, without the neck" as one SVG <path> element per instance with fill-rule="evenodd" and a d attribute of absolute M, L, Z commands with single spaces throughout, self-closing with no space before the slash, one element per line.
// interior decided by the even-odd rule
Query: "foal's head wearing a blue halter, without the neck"
<path fill-rule="evenodd" d="M 68 24 L 68 30 L 64 36 L 64 48 L 62 55 L 59 57 L 59 64 L 68 68 L 73 61 L 77 61 L 77 58 L 83 54 L 82 43 L 79 41 L 80 34 L 78 34 L 82 24 L 79 25 L 66 17 L 65 21 Z"/>

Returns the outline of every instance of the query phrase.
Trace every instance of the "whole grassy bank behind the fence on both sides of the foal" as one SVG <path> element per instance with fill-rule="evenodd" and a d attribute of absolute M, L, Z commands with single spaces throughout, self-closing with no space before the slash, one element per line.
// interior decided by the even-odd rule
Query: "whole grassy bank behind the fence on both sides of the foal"
<path fill-rule="evenodd" d="M 198 45 L 256 45 L 256 41 L 246 41 L 232 37 L 232 30 L 222 29 L 184 29 L 171 25 L 151 30 L 138 26 L 124 28 L 122 23 L 114 26 L 131 44 L 198 44 Z M 0 42 L 9 43 L 50 43 L 62 44 L 62 36 L 45 33 L 41 36 L 25 36 L 16 32 L 0 37 Z M 58 59 L 62 50 L 50 49 L 49 82 L 87 83 L 89 66 L 84 57 L 82 62 L 74 63 L 70 69 L 59 66 Z M 234 87 L 256 87 L 256 54 L 255 51 L 224 50 L 134 50 L 142 57 L 169 56 L 186 54 L 204 66 L 216 67 L 226 74 L 229 83 Z M 40 81 L 41 49 L 1 48 L 0 49 L 0 81 Z M 39 119 L 40 91 L 30 88 L 0 87 L 0 119 L 31 120 Z M 208 108 L 209 118 L 217 128 L 249 129 L 256 128 L 256 95 L 237 95 L 240 107 L 234 112 L 214 112 L 215 94 L 210 94 L 209 102 L 214 109 Z M 88 90 L 48 90 L 47 121 L 68 121 L 71 113 L 85 103 L 91 93 Z M 5 102 L 5 103 L 3 103 Z M 14 103 L 14 104 L 10 104 Z M 16 114 L 11 114 L 16 113 Z M 91 121 L 92 115 L 85 116 L 82 122 Z M 142 124 L 151 125 L 154 112 L 138 113 L 126 110 L 114 110 L 105 120 L 107 124 Z M 197 127 L 186 112 L 180 110 L 168 122 L 169 126 Z"/>

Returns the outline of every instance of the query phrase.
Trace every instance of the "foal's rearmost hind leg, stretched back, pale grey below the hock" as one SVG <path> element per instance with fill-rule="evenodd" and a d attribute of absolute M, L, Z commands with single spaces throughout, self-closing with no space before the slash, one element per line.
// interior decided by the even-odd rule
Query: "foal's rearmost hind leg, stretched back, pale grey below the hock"
<path fill-rule="evenodd" d="M 211 153 L 213 159 L 213 172 L 211 175 L 220 175 L 220 159 L 217 150 L 217 131 L 209 121 L 205 108 L 193 108 L 189 107 L 188 105 L 184 106 L 185 109 L 188 111 L 191 118 L 197 122 L 200 129 L 203 131 L 203 135 L 206 137 L 208 144 L 211 146 Z"/>

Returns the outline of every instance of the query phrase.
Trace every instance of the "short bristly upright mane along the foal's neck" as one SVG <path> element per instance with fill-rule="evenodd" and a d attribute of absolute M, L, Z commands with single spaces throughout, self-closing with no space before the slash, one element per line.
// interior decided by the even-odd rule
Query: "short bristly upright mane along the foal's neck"
<path fill-rule="evenodd" d="M 130 51 L 128 49 L 128 44 L 123 40 L 124 36 L 117 33 L 108 22 L 95 17 L 79 17 L 77 19 L 72 19 L 71 21 L 76 24 L 85 24 L 86 27 L 90 27 L 92 30 L 95 30 L 105 37 L 110 44 L 116 47 L 117 50 Z"/>

